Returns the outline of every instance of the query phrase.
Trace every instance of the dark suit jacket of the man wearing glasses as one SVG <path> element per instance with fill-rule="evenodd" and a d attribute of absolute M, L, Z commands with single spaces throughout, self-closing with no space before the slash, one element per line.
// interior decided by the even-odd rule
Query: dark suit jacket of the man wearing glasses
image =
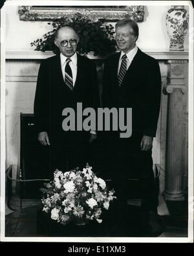
<path fill-rule="evenodd" d="M 43 60 L 39 68 L 34 100 L 34 116 L 38 133 L 47 131 L 51 140 L 60 140 L 61 135 L 63 137 L 69 135 L 71 132 L 65 132 L 62 129 L 65 118 L 62 116 L 62 111 L 66 107 L 76 110 L 78 102 L 83 103 L 83 109 L 96 108 L 100 104 L 94 62 L 78 55 L 76 83 L 71 91 L 68 86 L 65 86 L 59 55 Z M 78 132 L 72 133 L 78 134 Z"/>

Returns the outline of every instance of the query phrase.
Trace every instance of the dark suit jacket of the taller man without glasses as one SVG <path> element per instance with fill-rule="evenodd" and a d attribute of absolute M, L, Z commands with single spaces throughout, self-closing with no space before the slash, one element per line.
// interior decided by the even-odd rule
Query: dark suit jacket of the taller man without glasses
<path fill-rule="evenodd" d="M 154 137 L 160 110 L 161 77 L 158 62 L 138 49 L 122 86 L 119 86 L 119 58 L 120 53 L 116 53 L 105 62 L 103 107 L 131 107 L 133 134 Z"/>

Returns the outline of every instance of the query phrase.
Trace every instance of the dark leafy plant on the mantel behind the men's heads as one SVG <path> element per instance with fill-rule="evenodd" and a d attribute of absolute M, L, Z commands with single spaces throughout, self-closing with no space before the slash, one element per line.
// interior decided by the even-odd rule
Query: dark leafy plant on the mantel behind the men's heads
<path fill-rule="evenodd" d="M 77 47 L 78 53 L 87 55 L 87 53 L 92 51 L 94 56 L 103 56 L 116 51 L 113 25 L 104 24 L 98 19 L 92 20 L 87 12 L 72 14 L 72 16 L 52 22 L 52 24 L 48 23 L 48 25 L 52 25 L 52 31 L 47 32 L 43 35 L 43 38 L 31 43 L 31 46 L 36 46 L 36 51 L 53 51 L 58 53 L 58 47 L 54 44 L 54 34 L 60 27 L 65 25 L 74 27 L 80 35 L 80 42 Z"/>

